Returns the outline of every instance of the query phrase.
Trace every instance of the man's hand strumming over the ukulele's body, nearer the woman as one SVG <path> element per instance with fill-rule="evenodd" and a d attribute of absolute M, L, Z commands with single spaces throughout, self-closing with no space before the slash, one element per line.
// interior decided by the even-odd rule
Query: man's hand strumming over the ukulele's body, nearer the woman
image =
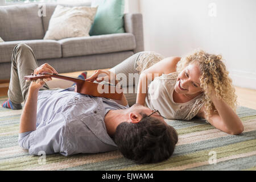
<path fill-rule="evenodd" d="M 114 83 L 115 85 L 118 83 L 118 80 L 115 80 L 115 74 L 110 71 L 103 71 L 101 69 L 96 70 L 92 76 L 86 78 L 85 81 L 106 81 L 110 82 L 110 84 Z"/>

